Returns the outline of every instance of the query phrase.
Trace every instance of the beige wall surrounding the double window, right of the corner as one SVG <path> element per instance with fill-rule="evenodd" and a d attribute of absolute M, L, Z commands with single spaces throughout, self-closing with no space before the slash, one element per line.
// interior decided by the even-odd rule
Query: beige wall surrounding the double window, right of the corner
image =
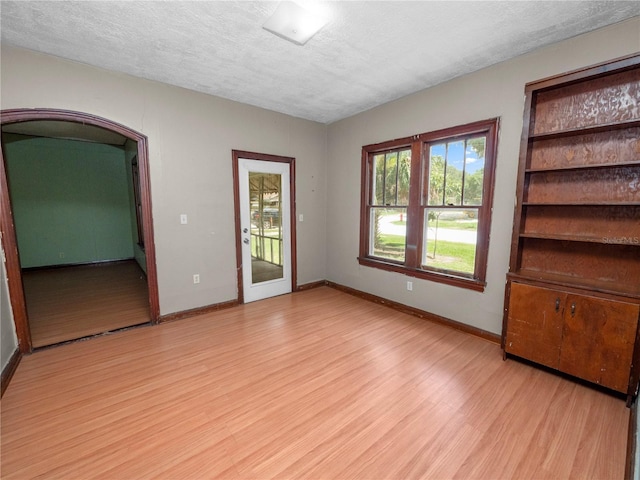
<path fill-rule="evenodd" d="M 329 127 L 328 278 L 334 282 L 500 333 L 508 271 L 524 85 L 640 51 L 640 19 L 601 29 L 423 90 Z M 417 59 L 419 61 L 419 59 Z M 484 293 L 358 264 L 363 145 L 500 117 L 493 219 Z"/>

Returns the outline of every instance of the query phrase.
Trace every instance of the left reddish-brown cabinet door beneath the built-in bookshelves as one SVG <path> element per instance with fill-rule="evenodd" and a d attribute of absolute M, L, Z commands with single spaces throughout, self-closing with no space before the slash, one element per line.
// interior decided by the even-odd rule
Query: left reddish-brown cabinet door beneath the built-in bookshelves
<path fill-rule="evenodd" d="M 564 292 L 512 283 L 505 351 L 558 368 L 566 297 Z"/>

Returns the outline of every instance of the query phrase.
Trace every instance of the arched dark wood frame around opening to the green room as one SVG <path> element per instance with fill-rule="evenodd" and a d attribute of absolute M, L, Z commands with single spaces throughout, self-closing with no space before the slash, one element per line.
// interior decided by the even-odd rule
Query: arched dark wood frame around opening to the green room
<path fill-rule="evenodd" d="M 140 175 L 140 201 L 142 204 L 142 225 L 144 228 L 145 256 L 147 261 L 147 285 L 149 288 L 149 315 L 151 323 L 158 323 L 160 317 L 160 301 L 158 297 L 158 274 L 156 269 L 156 253 L 153 235 L 153 215 L 151 209 L 151 179 L 149 176 L 149 153 L 147 137 L 124 125 L 106 118 L 83 112 L 58 109 L 9 109 L 0 111 L 0 125 L 29 122 L 34 120 L 56 120 L 82 123 L 104 128 L 136 142 L 138 146 L 138 168 Z M 21 353 L 33 350 L 29 318 L 27 315 L 24 289 L 22 285 L 22 269 L 16 238 L 11 196 L 9 195 L 4 145 L 0 150 L 0 233 L 2 248 L 6 257 L 7 283 L 9 285 L 9 301 L 13 312 L 13 321 L 18 336 L 18 347 Z"/>

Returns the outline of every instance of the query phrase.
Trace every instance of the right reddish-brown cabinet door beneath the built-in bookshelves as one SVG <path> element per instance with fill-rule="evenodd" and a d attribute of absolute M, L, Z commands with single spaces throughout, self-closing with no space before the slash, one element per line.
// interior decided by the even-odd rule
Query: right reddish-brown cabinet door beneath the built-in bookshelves
<path fill-rule="evenodd" d="M 560 370 L 627 393 L 639 305 L 568 295 Z"/>

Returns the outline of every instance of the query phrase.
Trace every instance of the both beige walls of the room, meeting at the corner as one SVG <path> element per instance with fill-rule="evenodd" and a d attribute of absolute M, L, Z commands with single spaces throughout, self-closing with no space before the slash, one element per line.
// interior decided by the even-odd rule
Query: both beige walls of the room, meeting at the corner
<path fill-rule="evenodd" d="M 1 108 L 79 110 L 149 138 L 162 314 L 236 298 L 231 149 L 297 158 L 298 283 L 328 279 L 499 333 L 524 84 L 640 51 L 640 19 L 555 44 L 329 127 L 2 47 Z M 484 293 L 357 263 L 362 145 L 501 118 Z M 180 225 L 187 213 L 189 224 Z M 200 273 L 201 283 L 192 284 Z"/>

